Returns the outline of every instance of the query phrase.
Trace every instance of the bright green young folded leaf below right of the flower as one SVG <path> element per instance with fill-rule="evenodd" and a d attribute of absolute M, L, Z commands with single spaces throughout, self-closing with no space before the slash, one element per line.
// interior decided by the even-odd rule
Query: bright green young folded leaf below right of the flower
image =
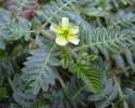
<path fill-rule="evenodd" d="M 70 72 L 77 72 L 78 79 L 82 77 L 91 92 L 98 93 L 101 91 L 101 82 L 97 72 L 89 71 L 89 68 L 77 63 L 70 69 Z"/>

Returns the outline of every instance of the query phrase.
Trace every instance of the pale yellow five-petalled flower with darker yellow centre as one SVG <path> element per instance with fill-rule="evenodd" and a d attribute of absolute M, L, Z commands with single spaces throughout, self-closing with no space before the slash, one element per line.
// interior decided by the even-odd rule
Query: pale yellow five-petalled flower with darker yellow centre
<path fill-rule="evenodd" d="M 65 46 L 69 41 L 74 45 L 78 45 L 79 43 L 79 39 L 75 36 L 78 33 L 78 26 L 71 27 L 68 17 L 62 17 L 60 26 L 51 24 L 50 29 L 58 34 L 56 43 L 60 46 Z"/>

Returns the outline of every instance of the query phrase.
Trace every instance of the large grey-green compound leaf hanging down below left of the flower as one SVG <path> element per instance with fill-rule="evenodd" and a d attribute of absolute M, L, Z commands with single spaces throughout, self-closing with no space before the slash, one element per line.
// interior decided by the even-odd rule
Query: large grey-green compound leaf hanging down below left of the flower
<path fill-rule="evenodd" d="M 39 49 L 30 50 L 29 53 L 33 56 L 28 57 L 28 61 L 24 63 L 26 67 L 22 70 L 24 72 L 22 80 L 26 82 L 34 80 L 29 86 L 35 95 L 40 88 L 48 91 L 49 84 L 54 85 L 54 79 L 59 77 L 59 73 L 53 67 L 60 65 L 60 61 L 54 58 L 54 55 L 52 56 L 54 48 L 53 45 L 52 48 L 42 46 Z"/>

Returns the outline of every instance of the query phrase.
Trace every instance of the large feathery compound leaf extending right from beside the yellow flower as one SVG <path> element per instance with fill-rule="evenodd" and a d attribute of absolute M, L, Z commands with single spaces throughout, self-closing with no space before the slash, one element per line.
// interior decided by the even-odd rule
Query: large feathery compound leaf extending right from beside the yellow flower
<path fill-rule="evenodd" d="M 89 46 L 86 45 L 84 47 L 89 47 L 96 55 L 101 51 L 105 56 L 108 56 L 110 51 L 123 50 L 123 45 L 128 45 L 126 41 L 131 40 L 132 35 L 128 31 L 121 31 L 120 27 L 110 27 L 108 29 L 97 27 L 90 34 Z"/>

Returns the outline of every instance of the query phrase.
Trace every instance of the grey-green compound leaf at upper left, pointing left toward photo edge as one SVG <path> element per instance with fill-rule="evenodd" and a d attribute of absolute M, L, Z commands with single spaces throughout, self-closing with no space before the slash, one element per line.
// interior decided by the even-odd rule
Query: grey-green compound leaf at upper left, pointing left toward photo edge
<path fill-rule="evenodd" d="M 34 32 L 34 31 L 33 31 Z M 30 36 L 30 26 L 27 20 L 20 20 L 19 23 L 12 21 L 7 29 L 3 31 L 2 37 L 7 40 L 16 40 L 24 36 L 25 40 L 27 40 Z"/>

